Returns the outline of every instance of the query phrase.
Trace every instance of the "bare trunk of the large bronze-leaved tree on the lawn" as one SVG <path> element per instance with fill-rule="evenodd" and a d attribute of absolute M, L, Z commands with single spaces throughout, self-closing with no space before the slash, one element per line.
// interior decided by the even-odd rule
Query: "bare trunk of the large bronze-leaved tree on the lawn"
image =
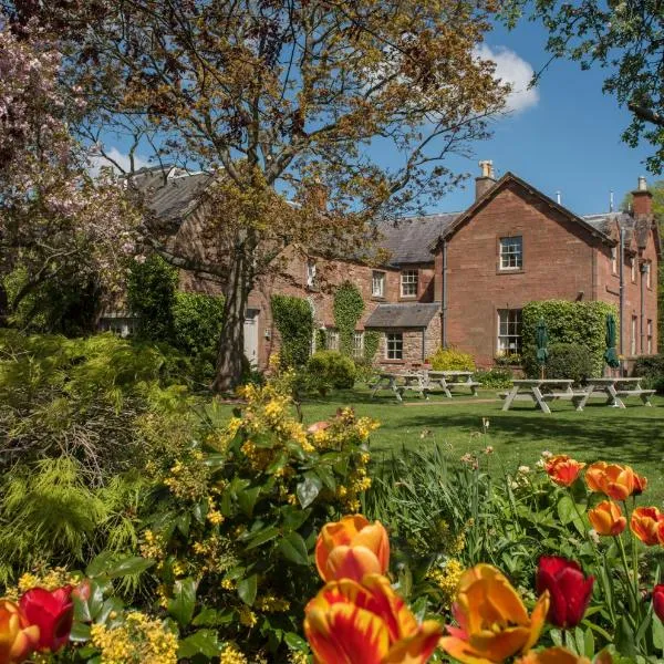
<path fill-rule="evenodd" d="M 245 360 L 245 315 L 251 290 L 249 261 L 246 252 L 235 252 L 225 289 L 224 326 L 217 351 L 217 370 L 212 390 L 231 392 L 242 380 Z"/>

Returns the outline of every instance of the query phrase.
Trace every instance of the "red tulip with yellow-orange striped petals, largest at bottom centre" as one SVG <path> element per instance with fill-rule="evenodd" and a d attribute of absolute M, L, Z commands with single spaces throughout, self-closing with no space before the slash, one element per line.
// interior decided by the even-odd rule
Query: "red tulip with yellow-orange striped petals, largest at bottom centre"
<path fill-rule="evenodd" d="M 320 664 L 424 664 L 442 633 L 437 621 L 418 625 L 380 574 L 367 574 L 362 584 L 329 582 L 304 615 L 304 633 Z"/>

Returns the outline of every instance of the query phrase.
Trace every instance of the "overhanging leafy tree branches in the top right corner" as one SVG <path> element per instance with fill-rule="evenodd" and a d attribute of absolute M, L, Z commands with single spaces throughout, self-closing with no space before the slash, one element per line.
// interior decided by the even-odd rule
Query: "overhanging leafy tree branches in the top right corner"
<path fill-rule="evenodd" d="M 570 58 L 582 69 L 606 70 L 604 92 L 614 94 L 632 113 L 623 139 L 635 146 L 649 141 L 655 153 L 647 167 L 664 164 L 664 3 L 662 0 L 511 0 L 513 20 L 531 12 L 549 30 L 554 58 Z"/>

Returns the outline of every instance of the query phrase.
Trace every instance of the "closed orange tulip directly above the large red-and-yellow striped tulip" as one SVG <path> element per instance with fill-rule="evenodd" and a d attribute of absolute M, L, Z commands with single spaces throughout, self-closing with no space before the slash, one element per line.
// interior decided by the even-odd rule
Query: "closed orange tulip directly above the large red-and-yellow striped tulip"
<path fill-rule="evenodd" d="M 334 549 L 343 547 L 340 551 Z M 378 521 L 370 523 L 362 515 L 325 523 L 315 542 L 315 567 L 323 581 L 383 574 L 390 567 L 390 540 Z"/>

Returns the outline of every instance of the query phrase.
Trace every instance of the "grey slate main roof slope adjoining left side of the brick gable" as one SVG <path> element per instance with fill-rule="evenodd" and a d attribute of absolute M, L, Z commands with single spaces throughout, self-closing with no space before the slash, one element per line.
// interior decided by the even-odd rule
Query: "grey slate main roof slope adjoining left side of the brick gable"
<path fill-rule="evenodd" d="M 377 245 L 390 251 L 388 264 L 432 262 L 434 257 L 430 247 L 459 214 L 425 215 L 383 221 L 378 225 L 381 239 Z"/>

